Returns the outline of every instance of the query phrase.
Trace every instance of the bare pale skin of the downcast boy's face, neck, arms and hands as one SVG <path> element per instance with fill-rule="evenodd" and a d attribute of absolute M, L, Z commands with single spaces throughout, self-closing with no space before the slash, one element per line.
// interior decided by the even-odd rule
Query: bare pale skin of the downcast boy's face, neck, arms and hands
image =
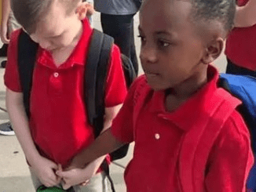
<path fill-rule="evenodd" d="M 81 9 L 81 7 L 84 9 Z M 35 42 L 38 42 L 42 48 L 48 49 L 53 54 L 57 67 L 60 66 L 61 62 L 67 60 L 71 51 L 75 48 L 82 34 L 81 20 L 86 16 L 86 10 L 86 4 L 80 2 L 78 9 L 75 9 L 70 16 L 65 16 L 64 6 L 57 0 L 53 0 L 53 4 L 49 7 L 49 12 L 41 21 L 42 24 L 38 24 L 35 33 L 31 34 L 31 38 Z M 67 189 L 75 184 L 86 182 L 95 174 L 104 160 L 104 156 L 93 161 L 86 168 L 76 168 L 72 171 L 75 174 L 71 176 L 57 176 L 56 171 L 61 170 L 61 166 L 47 158 L 43 158 L 35 147 L 24 110 L 23 93 L 13 92 L 7 88 L 5 102 L 20 146 L 24 150 L 31 168 L 34 169 L 35 174 L 43 185 L 53 187 L 63 179 L 64 188 Z M 104 130 L 111 126 L 112 119 L 120 107 L 121 105 L 105 108 Z"/>

